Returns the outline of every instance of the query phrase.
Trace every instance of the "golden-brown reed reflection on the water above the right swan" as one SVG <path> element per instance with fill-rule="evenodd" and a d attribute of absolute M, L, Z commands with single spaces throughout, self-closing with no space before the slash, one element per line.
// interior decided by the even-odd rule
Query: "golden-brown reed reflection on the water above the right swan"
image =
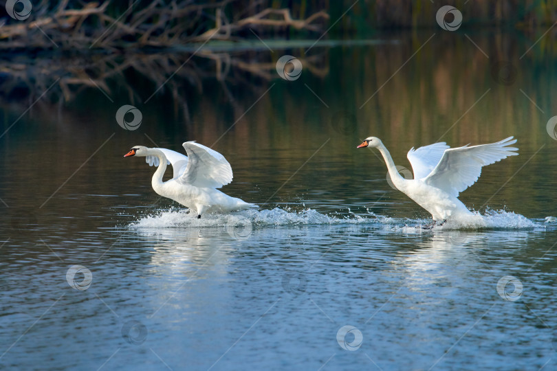
<path fill-rule="evenodd" d="M 540 79 L 538 71 L 545 69 L 543 66 L 554 58 L 551 56 L 554 53 L 533 48 L 523 56 L 531 45 L 520 40 L 518 34 L 474 35 L 474 42 L 481 50 L 466 37 L 436 34 L 429 45 L 397 72 L 429 36 L 424 33 L 412 38 L 406 42 L 407 47 L 382 47 L 381 51 L 373 53 L 372 63 L 361 66 L 369 78 L 360 80 L 371 83 L 362 86 L 361 98 L 358 97 L 356 102 L 364 102 L 376 93 L 361 111 L 366 117 L 377 117 L 393 139 L 400 139 L 401 133 L 408 139 L 419 138 L 432 122 L 439 122 L 440 117 L 444 117 L 446 124 L 436 128 L 438 136 L 433 140 L 459 119 L 443 140 L 466 144 L 461 143 L 463 137 L 481 140 L 488 132 L 503 137 L 506 133 L 518 133 L 521 120 L 534 120 L 533 117 L 521 117 L 525 111 L 534 108 L 532 116 L 540 116 L 520 89 L 538 106 L 551 105 L 550 81 L 557 76 L 554 71 L 546 70 L 546 78 Z M 507 76 L 507 70 L 516 73 Z M 390 76 L 393 78 L 380 89 Z M 479 100 L 488 89 L 485 98 Z M 477 100 L 479 102 L 470 110 Z M 481 120 L 485 124 L 470 124 L 470 120 Z M 481 131 L 482 128 L 485 131 Z M 541 129 L 538 126 L 532 128 L 535 131 Z M 413 142 L 415 144 L 428 143 Z"/>

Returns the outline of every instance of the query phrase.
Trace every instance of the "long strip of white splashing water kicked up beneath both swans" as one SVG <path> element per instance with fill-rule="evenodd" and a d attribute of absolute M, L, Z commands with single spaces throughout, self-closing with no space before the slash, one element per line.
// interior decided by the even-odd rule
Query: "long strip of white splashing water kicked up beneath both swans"
<path fill-rule="evenodd" d="M 243 210 L 230 214 L 205 214 L 197 219 L 186 210 L 160 210 L 155 214 L 142 216 L 129 225 L 132 229 L 149 228 L 184 228 L 184 227 L 226 227 L 236 225 L 239 221 L 248 221 L 253 227 L 288 226 L 288 225 L 376 225 L 389 229 L 424 229 L 430 228 L 431 219 L 391 218 L 367 212 L 364 215 L 349 211 L 347 216 L 321 214 L 307 208 L 296 211 L 290 208 L 275 207 L 272 210 Z M 488 210 L 485 214 L 474 215 L 459 221 L 447 221 L 444 225 L 435 225 L 434 229 L 534 229 L 545 227 L 521 214 L 504 210 Z"/>

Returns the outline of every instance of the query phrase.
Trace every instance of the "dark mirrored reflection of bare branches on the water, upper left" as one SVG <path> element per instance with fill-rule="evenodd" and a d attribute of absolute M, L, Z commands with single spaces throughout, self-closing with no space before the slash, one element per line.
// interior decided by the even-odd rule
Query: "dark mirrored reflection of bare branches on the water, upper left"
<path fill-rule="evenodd" d="M 328 68 L 325 53 L 301 60 L 305 71 L 324 77 Z M 279 78 L 270 53 L 212 52 L 192 54 L 92 55 L 74 58 L 27 58 L 15 56 L 1 67 L 0 98 L 4 102 L 28 105 L 43 95 L 52 104 L 71 102 L 87 89 L 102 89 L 111 99 L 124 90 L 131 104 L 151 100 L 150 94 L 170 93 L 173 104 L 188 106 L 186 91 L 204 90 L 204 80 L 217 80 L 228 102 L 237 99 L 228 85 L 250 87 L 259 93 L 268 81 Z M 239 107 L 239 109 L 243 109 Z"/>

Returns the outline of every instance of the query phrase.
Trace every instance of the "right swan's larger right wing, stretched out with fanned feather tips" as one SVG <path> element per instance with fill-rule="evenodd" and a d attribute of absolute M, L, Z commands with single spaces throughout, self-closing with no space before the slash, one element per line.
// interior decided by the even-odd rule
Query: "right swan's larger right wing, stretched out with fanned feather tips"
<path fill-rule="evenodd" d="M 456 197 L 476 183 L 482 166 L 501 161 L 508 156 L 518 155 L 512 152 L 518 148 L 507 147 L 515 143 L 516 139 L 508 137 L 492 144 L 450 148 L 444 152 L 441 161 L 424 182 Z"/>

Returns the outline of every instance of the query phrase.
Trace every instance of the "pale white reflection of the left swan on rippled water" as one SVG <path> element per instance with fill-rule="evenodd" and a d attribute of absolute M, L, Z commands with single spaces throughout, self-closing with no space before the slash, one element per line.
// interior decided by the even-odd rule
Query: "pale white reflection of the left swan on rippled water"
<path fill-rule="evenodd" d="M 134 234 L 137 245 L 151 253 L 146 284 L 155 294 L 144 304 L 148 315 L 176 317 L 202 311 L 200 306 L 224 308 L 232 300 L 230 292 L 215 286 L 229 279 L 231 250 L 237 242 L 226 230 L 162 228 Z"/>

